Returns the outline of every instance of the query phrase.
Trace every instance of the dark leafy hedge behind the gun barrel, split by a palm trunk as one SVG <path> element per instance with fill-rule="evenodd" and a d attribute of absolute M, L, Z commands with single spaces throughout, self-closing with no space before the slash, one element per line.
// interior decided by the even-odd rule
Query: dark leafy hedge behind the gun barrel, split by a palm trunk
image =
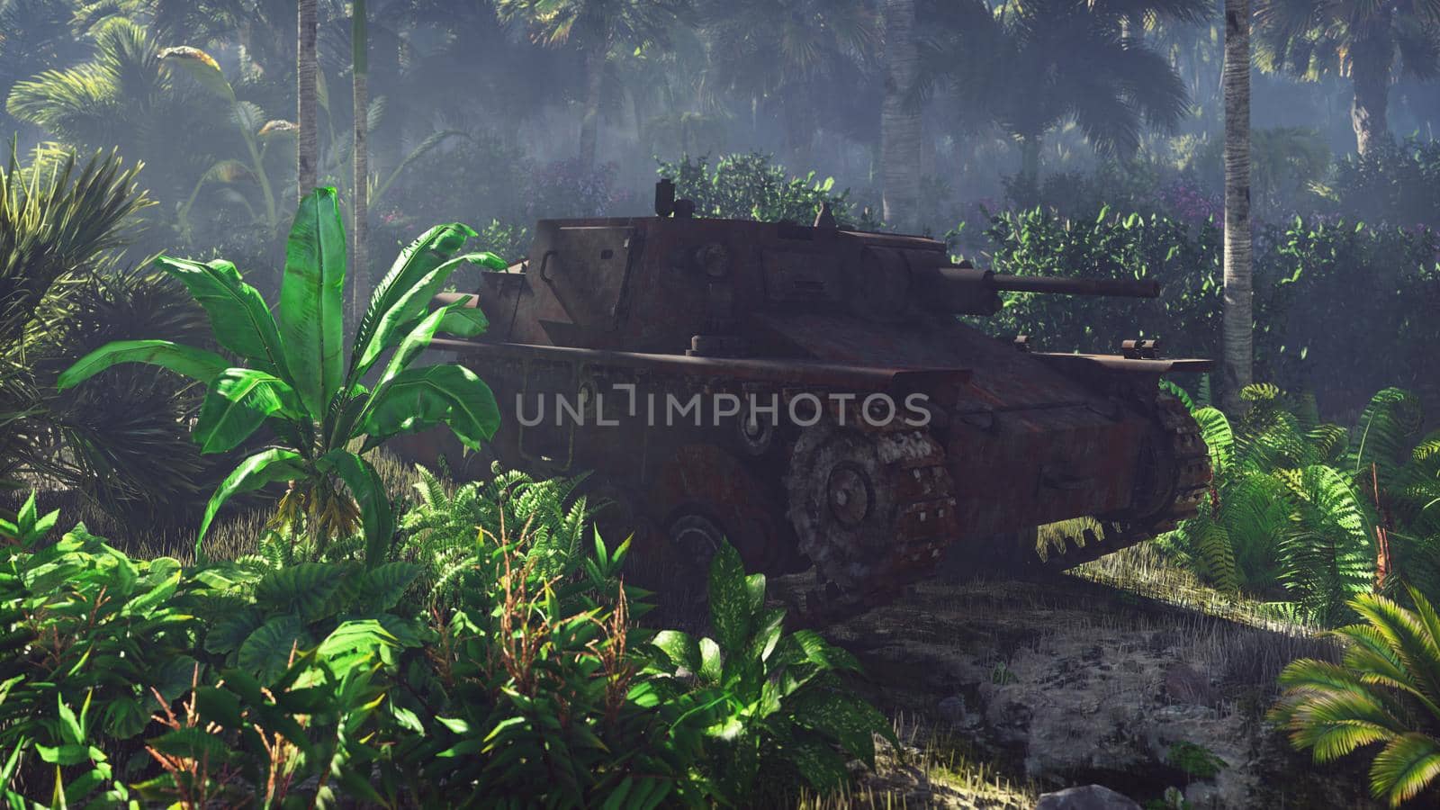
<path fill-rule="evenodd" d="M 1047 209 L 991 219 L 996 272 L 1152 278 L 1156 301 L 1008 293 L 976 323 L 1030 334 L 1053 352 L 1113 352 L 1128 337 L 1169 356 L 1220 357 L 1221 231 L 1159 213 L 1066 218 Z M 1328 411 L 1358 411 L 1385 385 L 1433 386 L 1440 362 L 1440 238 L 1424 228 L 1295 219 L 1257 229 L 1256 376 L 1310 389 Z"/>

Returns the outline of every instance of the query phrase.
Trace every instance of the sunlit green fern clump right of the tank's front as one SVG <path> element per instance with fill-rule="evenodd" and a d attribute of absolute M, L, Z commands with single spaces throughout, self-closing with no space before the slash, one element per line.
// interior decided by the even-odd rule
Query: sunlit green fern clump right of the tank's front
<path fill-rule="evenodd" d="M 1221 589 L 1283 587 L 1296 610 L 1333 623 L 1348 598 L 1372 587 L 1384 526 L 1390 571 L 1440 591 L 1440 434 L 1414 442 L 1421 409 L 1413 395 L 1378 392 L 1348 430 L 1322 422 L 1313 396 L 1289 398 L 1273 385 L 1243 396 L 1251 405 L 1237 421 L 1194 411 L 1215 506 L 1162 538 L 1171 558 Z"/>

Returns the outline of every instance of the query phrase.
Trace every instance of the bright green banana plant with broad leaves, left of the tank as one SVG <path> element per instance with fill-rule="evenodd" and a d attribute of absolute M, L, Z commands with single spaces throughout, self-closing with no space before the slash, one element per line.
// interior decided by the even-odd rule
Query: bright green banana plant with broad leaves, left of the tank
<path fill-rule="evenodd" d="M 465 225 L 439 225 L 405 248 L 376 285 L 346 360 L 344 225 L 336 190 L 315 189 L 301 200 L 289 231 L 274 316 L 228 261 L 156 259 L 204 307 L 216 343 L 246 365 L 167 340 L 122 340 L 81 357 L 58 386 L 73 386 L 118 363 L 150 363 L 209 386 L 193 428 L 202 453 L 230 451 L 262 425 L 271 428 L 276 441 L 240 461 L 210 497 L 196 559 L 203 559 L 206 530 L 226 500 L 288 481 L 276 516 L 284 529 L 304 519 L 315 533 L 317 553 L 330 539 L 363 529 L 366 564 L 379 565 L 395 519 L 363 454 L 390 437 L 441 424 L 478 450 L 500 424 L 494 393 L 468 369 L 410 368 L 436 333 L 474 337 L 488 326 L 478 308 L 462 304 L 429 311 L 431 298 L 458 267 L 505 267 L 490 252 L 461 254 L 471 236 L 475 231 Z M 372 388 L 363 380 L 373 369 L 379 372 Z"/>

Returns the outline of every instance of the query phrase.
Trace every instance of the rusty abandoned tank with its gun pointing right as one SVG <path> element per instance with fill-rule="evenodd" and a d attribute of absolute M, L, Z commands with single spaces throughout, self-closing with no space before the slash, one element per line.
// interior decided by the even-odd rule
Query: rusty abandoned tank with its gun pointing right
<path fill-rule="evenodd" d="M 478 306 L 487 334 L 432 344 L 495 391 L 494 458 L 589 471 L 602 532 L 634 538 L 652 584 L 703 581 L 724 538 L 752 571 L 814 571 L 806 608 L 842 615 L 942 561 L 1070 568 L 1205 497 L 1200 430 L 1158 382 L 1208 360 L 1145 340 L 1041 352 L 958 317 L 994 314 L 1005 290 L 1156 284 L 998 275 L 824 209 L 814 225 L 704 219 L 665 180 L 655 196 L 655 216 L 539 222 L 527 261 L 436 298 Z M 1037 552 L 1037 526 L 1076 517 L 1093 520 Z"/>

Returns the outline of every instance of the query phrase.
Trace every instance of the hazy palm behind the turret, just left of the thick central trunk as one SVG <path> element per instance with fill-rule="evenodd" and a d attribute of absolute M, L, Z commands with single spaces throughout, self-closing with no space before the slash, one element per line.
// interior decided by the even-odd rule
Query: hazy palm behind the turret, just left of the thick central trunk
<path fill-rule="evenodd" d="M 701 10 L 710 39 L 706 84 L 747 99 L 752 121 L 762 107 L 772 107 L 793 160 L 808 169 L 821 99 L 835 95 L 835 86 L 854 88 L 857 74 L 871 65 L 881 42 L 871 4 L 708 0 Z"/>

